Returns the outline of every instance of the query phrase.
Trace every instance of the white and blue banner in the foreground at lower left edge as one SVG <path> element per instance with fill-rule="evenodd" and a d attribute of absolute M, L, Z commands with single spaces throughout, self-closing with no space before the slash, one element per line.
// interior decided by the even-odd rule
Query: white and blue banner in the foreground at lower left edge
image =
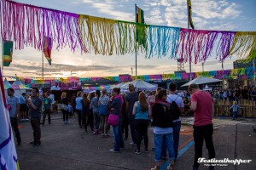
<path fill-rule="evenodd" d="M 0 169 L 19 170 L 15 149 L 15 140 L 9 120 L 9 111 L 3 88 L 3 77 L 0 71 Z"/>

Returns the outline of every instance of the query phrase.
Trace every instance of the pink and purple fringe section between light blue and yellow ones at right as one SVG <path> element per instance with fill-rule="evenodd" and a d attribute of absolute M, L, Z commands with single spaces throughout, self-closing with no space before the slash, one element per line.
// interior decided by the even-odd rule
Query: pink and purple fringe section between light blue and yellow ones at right
<path fill-rule="evenodd" d="M 182 28 L 176 54 L 179 52 L 179 57 L 184 62 L 197 64 L 205 62 L 212 54 L 213 48 L 216 48 L 216 59 L 223 61 L 230 54 L 230 47 L 235 36 L 235 31 L 204 31 Z M 217 43 L 218 45 L 214 45 Z"/>

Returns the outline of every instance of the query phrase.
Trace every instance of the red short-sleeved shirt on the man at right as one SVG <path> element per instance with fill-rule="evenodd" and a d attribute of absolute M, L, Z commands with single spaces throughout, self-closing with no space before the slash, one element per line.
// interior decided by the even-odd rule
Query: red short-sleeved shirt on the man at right
<path fill-rule="evenodd" d="M 211 94 L 204 91 L 198 91 L 192 94 L 191 102 L 197 102 L 195 110 L 194 126 L 203 126 L 212 124 L 212 103 Z"/>

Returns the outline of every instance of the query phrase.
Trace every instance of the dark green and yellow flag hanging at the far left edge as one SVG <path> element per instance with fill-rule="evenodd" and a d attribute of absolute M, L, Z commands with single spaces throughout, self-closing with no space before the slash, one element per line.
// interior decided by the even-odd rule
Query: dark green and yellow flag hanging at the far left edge
<path fill-rule="evenodd" d="M 3 41 L 3 66 L 9 66 L 13 61 L 14 42 Z"/>

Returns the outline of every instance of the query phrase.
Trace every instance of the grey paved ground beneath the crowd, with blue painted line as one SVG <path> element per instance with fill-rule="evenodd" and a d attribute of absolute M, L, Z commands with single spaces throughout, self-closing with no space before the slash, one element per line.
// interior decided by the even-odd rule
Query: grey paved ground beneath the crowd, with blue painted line
<path fill-rule="evenodd" d="M 63 124 L 61 114 L 53 115 L 52 124 L 42 127 L 42 144 L 32 146 L 32 127 L 30 122 L 20 122 L 22 145 L 17 147 L 21 170 L 71 170 L 71 169 L 133 169 L 148 170 L 154 167 L 154 151 L 136 155 L 136 147 L 130 140 L 125 141 L 125 149 L 120 153 L 109 153 L 113 148 L 113 137 L 108 139 L 85 133 L 78 126 L 77 117 L 70 119 L 70 124 Z M 193 118 L 183 117 L 181 130 L 179 158 L 175 169 L 189 170 L 193 164 L 194 141 L 193 129 L 190 126 Z M 221 170 L 253 170 L 256 167 L 256 133 L 251 126 L 256 127 L 256 120 L 241 119 L 232 121 L 230 117 L 214 119 L 214 136 L 216 156 L 218 159 L 248 159 L 248 164 L 215 167 Z M 148 129 L 149 146 L 154 146 L 153 129 Z M 207 150 L 204 148 L 204 157 Z M 163 161 L 161 169 L 166 169 Z M 201 164 L 200 169 L 207 169 Z"/>

